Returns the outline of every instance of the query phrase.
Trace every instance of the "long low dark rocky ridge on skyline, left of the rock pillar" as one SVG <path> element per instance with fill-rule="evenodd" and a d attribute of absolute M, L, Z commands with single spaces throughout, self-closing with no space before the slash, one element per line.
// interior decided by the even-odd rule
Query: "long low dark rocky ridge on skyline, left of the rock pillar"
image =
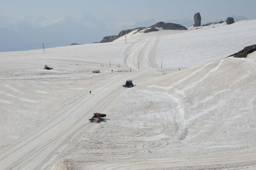
<path fill-rule="evenodd" d="M 138 27 L 135 29 L 127 29 L 119 32 L 119 34 L 116 36 L 106 36 L 100 41 L 100 43 L 108 43 L 111 41 L 114 41 L 117 38 L 120 38 L 121 36 L 124 36 L 125 34 L 129 34 L 132 31 L 134 34 L 137 32 L 143 32 L 143 33 L 148 33 L 148 32 L 153 32 L 153 31 L 159 31 L 159 30 L 187 30 L 186 27 L 180 25 L 180 24 L 173 24 L 173 23 L 165 23 L 165 22 L 157 22 L 154 25 L 151 25 L 150 27 Z"/>

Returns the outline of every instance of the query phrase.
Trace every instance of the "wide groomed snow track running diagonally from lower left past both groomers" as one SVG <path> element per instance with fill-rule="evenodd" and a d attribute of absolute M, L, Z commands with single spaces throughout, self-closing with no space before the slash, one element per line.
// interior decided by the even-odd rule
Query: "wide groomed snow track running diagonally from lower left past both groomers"
<path fill-rule="evenodd" d="M 120 80 L 109 82 L 95 96 L 81 96 L 75 103 L 70 104 L 61 111 L 61 117 L 51 120 L 47 125 L 21 139 L 11 148 L 0 153 L 2 169 L 40 169 L 43 166 L 51 169 L 52 162 L 48 162 L 57 152 L 65 150 L 70 138 L 81 129 L 81 127 L 92 128 L 88 123 L 93 111 L 100 110 L 100 106 L 109 104 L 111 106 L 120 94 L 122 94 L 122 83 L 127 78 L 138 78 L 147 73 L 135 72 Z M 103 109 L 102 109 L 103 110 Z M 63 147 L 64 146 L 64 147 Z M 47 166 L 45 164 L 51 164 Z"/>

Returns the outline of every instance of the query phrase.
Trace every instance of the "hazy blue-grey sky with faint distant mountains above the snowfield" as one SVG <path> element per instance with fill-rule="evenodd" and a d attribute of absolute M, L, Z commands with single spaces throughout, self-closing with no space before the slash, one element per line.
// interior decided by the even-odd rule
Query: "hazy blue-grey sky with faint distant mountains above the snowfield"
<path fill-rule="evenodd" d="M 188 27 L 236 15 L 256 18 L 256 0 L 0 0 L 0 51 L 100 41 L 155 22 Z M 240 17 L 241 18 L 241 17 Z M 22 43 L 22 45 L 20 45 Z"/>

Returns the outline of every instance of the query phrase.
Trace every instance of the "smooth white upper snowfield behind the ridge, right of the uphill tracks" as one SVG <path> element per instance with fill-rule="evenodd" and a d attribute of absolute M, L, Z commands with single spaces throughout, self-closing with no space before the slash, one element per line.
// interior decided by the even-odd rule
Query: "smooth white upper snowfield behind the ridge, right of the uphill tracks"
<path fill-rule="evenodd" d="M 157 67 L 164 70 L 199 66 L 216 59 L 227 57 L 244 46 L 255 44 L 256 20 L 244 20 L 231 25 L 211 25 L 188 31 L 158 31 L 147 34 L 132 31 L 127 34 L 127 42 L 145 41 L 143 46 L 152 49 Z M 134 34 L 136 33 L 136 34 Z M 117 41 L 125 41 L 122 36 Z M 144 47 L 144 48 L 145 48 Z"/>

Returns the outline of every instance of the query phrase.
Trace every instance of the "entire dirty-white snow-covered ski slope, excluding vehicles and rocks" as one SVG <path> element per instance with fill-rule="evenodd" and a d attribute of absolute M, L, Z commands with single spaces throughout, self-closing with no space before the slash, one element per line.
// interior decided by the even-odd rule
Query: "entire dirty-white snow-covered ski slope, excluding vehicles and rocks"
<path fill-rule="evenodd" d="M 255 44 L 255 28 L 0 53 L 1 169 L 255 167 L 256 53 L 225 58 Z M 90 124 L 93 112 L 108 120 Z"/>

